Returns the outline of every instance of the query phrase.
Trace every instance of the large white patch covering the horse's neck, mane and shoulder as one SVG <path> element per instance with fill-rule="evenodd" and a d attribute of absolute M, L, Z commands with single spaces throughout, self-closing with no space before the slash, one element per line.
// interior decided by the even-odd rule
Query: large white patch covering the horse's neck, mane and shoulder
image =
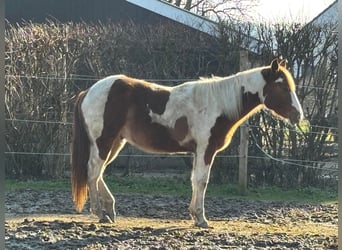
<path fill-rule="evenodd" d="M 266 84 L 260 67 L 228 77 L 204 78 L 187 82 L 171 89 L 165 111 L 159 115 L 150 110 L 152 122 L 174 128 L 178 118 L 185 116 L 189 134 L 182 141 L 195 139 L 197 145 L 206 148 L 211 135 L 211 128 L 217 118 L 225 114 L 232 120 L 241 115 L 242 87 L 245 92 L 258 93 L 263 102 L 263 88 Z M 192 138 L 195 135 L 196 138 Z"/>

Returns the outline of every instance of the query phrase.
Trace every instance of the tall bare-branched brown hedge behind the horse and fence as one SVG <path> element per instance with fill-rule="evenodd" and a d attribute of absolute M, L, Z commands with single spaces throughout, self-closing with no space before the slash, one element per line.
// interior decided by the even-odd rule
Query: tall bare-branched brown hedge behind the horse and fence
<path fill-rule="evenodd" d="M 337 133 L 331 130 L 337 127 L 337 39 L 332 28 L 307 27 L 299 32 L 286 25 L 252 29 L 250 25 L 221 24 L 220 36 L 213 38 L 177 24 L 7 24 L 7 151 L 25 154 L 6 155 L 6 174 L 68 174 L 69 157 L 59 153 L 69 152 L 74 97 L 97 79 L 120 73 L 152 81 L 171 79 L 159 83 L 174 86 L 199 76 L 229 75 L 239 71 L 241 46 L 253 45 L 261 56 L 250 53 L 252 67 L 269 64 L 278 55 L 288 59 L 309 123 L 300 131 L 263 112 L 250 119 L 249 155 L 254 157 L 249 160 L 250 183 L 315 185 L 326 173 L 323 165 L 300 165 L 336 157 L 336 150 L 329 153 L 327 149 L 327 142 L 335 143 Z M 258 36 L 257 43 L 251 39 L 252 32 Z M 237 156 L 238 144 L 236 133 L 220 156 Z M 131 155 L 136 150 L 127 148 L 123 153 Z M 296 160 L 297 165 L 284 166 L 265 158 L 265 153 Z M 190 165 L 188 159 L 184 158 L 186 165 Z M 172 158 L 170 161 L 168 165 L 173 164 Z M 127 158 L 113 165 L 134 168 L 141 162 Z M 236 157 L 216 158 L 212 180 L 236 182 L 237 162 Z"/>

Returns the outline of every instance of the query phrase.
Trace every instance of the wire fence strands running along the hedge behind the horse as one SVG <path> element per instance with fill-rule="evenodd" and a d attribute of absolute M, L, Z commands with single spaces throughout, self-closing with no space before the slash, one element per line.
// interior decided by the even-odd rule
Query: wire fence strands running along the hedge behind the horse
<path fill-rule="evenodd" d="M 62 80 L 62 81 L 97 81 L 102 79 L 103 77 L 94 77 L 90 75 L 71 75 L 69 77 L 64 77 L 60 75 L 40 75 L 40 76 L 29 76 L 29 75 L 6 75 L 5 76 L 7 79 L 9 78 L 27 78 L 27 79 L 40 79 L 40 80 Z M 179 82 L 185 82 L 185 81 L 191 81 L 191 80 L 196 80 L 196 79 L 145 79 L 147 81 L 151 82 L 159 82 L 159 83 L 179 83 Z M 311 89 L 316 89 L 316 90 L 322 90 L 324 88 L 322 87 L 317 87 L 317 86 L 303 86 L 303 85 L 298 85 L 298 88 L 305 87 L 305 88 L 311 88 Z M 23 115 L 23 114 L 22 114 Z M 29 117 L 29 116 L 27 116 Z M 72 122 L 69 121 L 52 121 L 52 120 L 30 120 L 30 119 L 17 119 L 17 118 L 6 118 L 6 122 L 9 123 L 24 123 L 27 126 L 30 126 L 30 124 L 44 124 L 44 125 L 61 125 L 65 126 L 65 129 L 70 129 L 71 132 L 71 126 Z M 258 125 L 249 125 L 250 128 L 253 129 L 262 129 Z M 311 134 L 328 134 L 331 136 L 336 137 L 337 136 L 337 127 L 327 127 L 327 126 L 321 126 L 321 125 L 315 125 L 315 124 L 310 124 L 310 127 L 315 130 L 320 130 L 319 132 L 315 131 L 310 131 L 307 133 Z M 268 130 L 282 130 L 285 132 L 286 131 L 293 131 L 293 132 L 298 132 L 296 128 L 273 128 L 273 127 L 268 127 Z M 326 130 L 328 132 L 323 132 L 322 130 Z M 251 147 L 256 146 L 256 148 L 259 150 L 259 153 L 262 155 L 248 155 L 248 159 L 253 160 L 253 159 L 261 159 L 261 160 L 272 160 L 275 162 L 279 162 L 283 165 L 288 165 L 288 166 L 296 166 L 296 167 L 301 167 L 301 168 L 311 168 L 311 169 L 321 169 L 322 166 L 325 166 L 325 170 L 331 171 L 331 172 L 337 172 L 338 168 L 338 163 L 337 159 L 329 159 L 330 161 L 311 161 L 311 160 L 297 160 L 297 159 L 288 159 L 288 158 L 277 158 L 272 155 L 270 155 L 268 152 L 266 152 L 261 145 L 257 143 L 257 140 L 252 133 L 250 129 L 250 138 L 252 138 L 252 143 L 249 144 Z M 68 142 L 66 142 L 67 144 Z M 337 149 L 336 149 L 337 150 Z M 21 155 L 21 156 L 44 156 L 44 157 L 70 157 L 70 152 L 28 152 L 28 151 L 6 151 L 6 155 Z M 156 154 L 141 154 L 141 153 L 135 153 L 135 154 L 127 154 L 125 152 L 122 152 L 118 155 L 119 158 L 122 157 L 130 157 L 130 158 L 154 158 L 154 157 L 163 157 L 163 158 L 184 158 L 184 157 L 192 157 L 192 155 L 156 155 Z M 217 158 L 239 158 L 240 156 L 238 154 L 235 155 L 226 155 L 226 154 L 219 154 L 217 155 Z"/>

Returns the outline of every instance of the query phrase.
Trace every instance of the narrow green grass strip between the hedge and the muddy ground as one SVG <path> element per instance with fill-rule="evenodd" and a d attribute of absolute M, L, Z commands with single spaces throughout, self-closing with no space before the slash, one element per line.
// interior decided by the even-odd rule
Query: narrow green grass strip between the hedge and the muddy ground
<path fill-rule="evenodd" d="M 191 196 L 190 180 L 181 178 L 156 177 L 105 177 L 110 190 L 115 193 L 140 193 L 173 196 Z M 57 180 L 6 180 L 6 190 L 55 190 L 70 191 L 70 179 Z M 241 196 L 238 186 L 233 184 L 209 183 L 207 197 L 225 197 L 251 200 L 298 201 L 298 202 L 337 202 L 337 192 L 314 187 L 282 189 L 279 187 L 249 188 Z"/>

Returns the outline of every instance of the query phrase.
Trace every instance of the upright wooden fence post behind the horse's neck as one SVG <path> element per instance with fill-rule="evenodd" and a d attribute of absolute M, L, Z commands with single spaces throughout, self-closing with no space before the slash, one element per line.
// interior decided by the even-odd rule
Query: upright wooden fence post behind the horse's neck
<path fill-rule="evenodd" d="M 249 69 L 248 52 L 240 51 L 240 71 Z M 239 146 L 239 193 L 247 193 L 247 162 L 248 162 L 248 121 L 240 126 Z"/>

